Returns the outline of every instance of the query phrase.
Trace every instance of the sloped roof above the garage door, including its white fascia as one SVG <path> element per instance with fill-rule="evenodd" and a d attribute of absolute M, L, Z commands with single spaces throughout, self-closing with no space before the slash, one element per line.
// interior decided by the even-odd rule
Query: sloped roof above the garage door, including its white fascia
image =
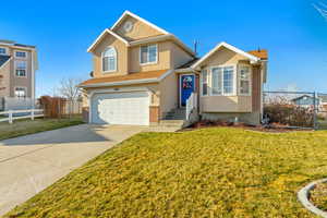
<path fill-rule="evenodd" d="M 138 73 L 130 73 L 126 75 L 117 75 L 109 77 L 89 78 L 81 83 L 80 87 L 96 87 L 96 86 L 114 86 L 142 83 L 158 83 L 167 75 L 172 73 L 172 70 L 147 71 Z"/>

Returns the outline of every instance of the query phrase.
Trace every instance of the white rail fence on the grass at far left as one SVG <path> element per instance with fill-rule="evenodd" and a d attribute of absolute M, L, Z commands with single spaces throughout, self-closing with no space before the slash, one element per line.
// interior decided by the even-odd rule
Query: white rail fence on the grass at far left
<path fill-rule="evenodd" d="M 14 120 L 28 119 L 44 117 L 43 109 L 31 109 L 31 110 L 8 110 L 0 112 L 0 122 L 13 123 Z"/>

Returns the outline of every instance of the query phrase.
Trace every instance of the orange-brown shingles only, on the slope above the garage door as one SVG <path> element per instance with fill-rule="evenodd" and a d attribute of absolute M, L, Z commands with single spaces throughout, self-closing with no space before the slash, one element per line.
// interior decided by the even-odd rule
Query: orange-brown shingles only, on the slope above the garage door
<path fill-rule="evenodd" d="M 158 78 L 164 75 L 168 70 L 160 70 L 160 71 L 148 71 L 148 72 L 141 72 L 141 73 L 131 73 L 126 75 L 117 75 L 117 76 L 108 76 L 108 77 L 96 77 L 89 78 L 84 81 L 80 84 L 80 86 L 87 86 L 94 84 L 101 84 L 101 83 L 116 83 L 116 82 L 125 82 L 125 81 L 138 81 L 138 80 L 146 80 L 146 78 Z"/>

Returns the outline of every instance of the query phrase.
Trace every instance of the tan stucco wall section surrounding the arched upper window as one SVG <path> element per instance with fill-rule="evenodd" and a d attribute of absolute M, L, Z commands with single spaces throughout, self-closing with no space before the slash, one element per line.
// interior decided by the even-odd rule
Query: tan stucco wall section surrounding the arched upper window
<path fill-rule="evenodd" d="M 117 51 L 117 71 L 110 73 L 102 72 L 102 51 L 109 47 L 114 47 Z M 114 75 L 124 75 L 128 73 L 128 47 L 124 43 L 117 39 L 116 37 L 107 34 L 106 37 L 100 41 L 93 52 L 93 63 L 94 63 L 94 76 L 95 77 L 105 77 L 105 76 L 114 76 Z"/>

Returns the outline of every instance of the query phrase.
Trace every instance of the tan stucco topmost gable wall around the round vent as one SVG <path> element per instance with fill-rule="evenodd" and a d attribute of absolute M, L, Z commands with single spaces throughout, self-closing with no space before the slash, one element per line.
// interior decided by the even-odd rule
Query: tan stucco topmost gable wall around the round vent
<path fill-rule="evenodd" d="M 128 21 L 133 23 L 133 29 L 129 33 L 125 33 L 123 26 Z M 159 31 L 131 16 L 126 16 L 113 31 L 129 40 L 162 35 L 162 33 L 160 33 Z"/>

